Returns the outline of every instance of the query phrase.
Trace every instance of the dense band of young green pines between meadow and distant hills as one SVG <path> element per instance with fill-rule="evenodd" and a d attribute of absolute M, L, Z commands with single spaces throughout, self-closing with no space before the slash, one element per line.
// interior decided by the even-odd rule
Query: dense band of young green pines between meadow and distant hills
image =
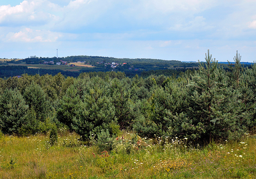
<path fill-rule="evenodd" d="M 224 70 L 209 51 L 205 60 L 179 76 L 151 71 L 132 78 L 123 72 L 0 78 L 0 129 L 26 136 L 66 127 L 108 149 L 123 129 L 196 142 L 255 130 L 256 64 L 244 68 L 236 54 Z"/>

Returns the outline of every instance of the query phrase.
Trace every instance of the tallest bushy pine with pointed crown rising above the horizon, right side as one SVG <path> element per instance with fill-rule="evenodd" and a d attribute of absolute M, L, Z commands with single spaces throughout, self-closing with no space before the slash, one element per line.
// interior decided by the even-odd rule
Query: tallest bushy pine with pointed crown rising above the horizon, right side
<path fill-rule="evenodd" d="M 206 55 L 206 54 L 205 54 Z M 218 61 L 212 55 L 206 55 L 205 67 L 200 64 L 200 70 L 192 76 L 188 84 L 189 108 L 185 131 L 191 138 L 210 140 L 211 137 L 229 137 L 232 133 L 241 134 L 244 128 L 237 115 L 238 93 L 227 83 L 223 68 L 218 68 Z"/>

